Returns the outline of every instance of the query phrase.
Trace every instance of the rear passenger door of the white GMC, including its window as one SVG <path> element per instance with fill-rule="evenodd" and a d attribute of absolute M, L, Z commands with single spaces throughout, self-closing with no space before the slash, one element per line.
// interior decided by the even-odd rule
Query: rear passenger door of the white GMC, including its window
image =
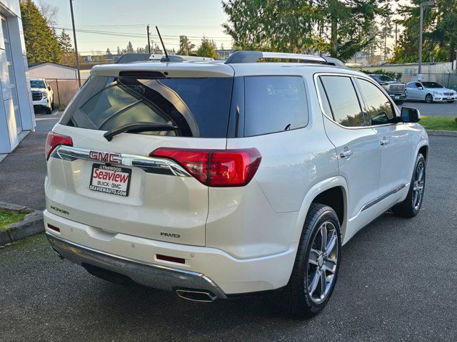
<path fill-rule="evenodd" d="M 336 147 L 339 172 L 348 185 L 347 241 L 374 218 L 369 204 L 378 198 L 380 146 L 376 132 L 365 127 L 350 76 L 321 74 L 316 86 L 326 133 Z"/>

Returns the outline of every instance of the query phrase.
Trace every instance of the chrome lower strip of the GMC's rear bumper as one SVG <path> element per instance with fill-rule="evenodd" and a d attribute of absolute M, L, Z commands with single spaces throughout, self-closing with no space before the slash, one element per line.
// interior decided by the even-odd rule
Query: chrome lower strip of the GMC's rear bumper
<path fill-rule="evenodd" d="M 55 237 L 49 232 L 46 232 L 46 237 L 54 251 L 75 264 L 81 266 L 89 264 L 122 274 L 137 284 L 154 287 L 154 289 L 170 291 L 176 291 L 176 289 L 199 289 L 209 291 L 216 298 L 226 298 L 224 292 L 219 289 L 214 281 L 204 274 L 96 251 L 89 247 L 69 242 L 66 239 Z"/>

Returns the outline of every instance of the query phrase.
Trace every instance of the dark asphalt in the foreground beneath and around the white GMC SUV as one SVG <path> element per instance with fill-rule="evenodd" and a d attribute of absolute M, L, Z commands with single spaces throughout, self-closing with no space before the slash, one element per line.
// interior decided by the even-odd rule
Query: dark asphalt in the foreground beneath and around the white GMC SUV
<path fill-rule="evenodd" d="M 41 234 L 0 249 L 0 341 L 456 341 L 457 138 L 430 144 L 421 213 L 384 214 L 351 239 L 315 318 L 283 316 L 266 295 L 200 304 L 111 284 Z"/>

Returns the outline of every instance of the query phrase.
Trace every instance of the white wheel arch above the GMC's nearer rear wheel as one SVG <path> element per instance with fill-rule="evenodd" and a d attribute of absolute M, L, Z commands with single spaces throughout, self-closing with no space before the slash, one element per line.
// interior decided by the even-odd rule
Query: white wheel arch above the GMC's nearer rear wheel
<path fill-rule="evenodd" d="M 318 182 L 306 193 L 298 214 L 296 235 L 293 242 L 298 242 L 303 231 L 306 215 L 311 204 L 321 203 L 332 207 L 335 210 L 341 227 L 341 241 L 344 241 L 346 225 L 348 222 L 348 187 L 346 180 L 341 177 L 331 177 L 328 180 Z"/>

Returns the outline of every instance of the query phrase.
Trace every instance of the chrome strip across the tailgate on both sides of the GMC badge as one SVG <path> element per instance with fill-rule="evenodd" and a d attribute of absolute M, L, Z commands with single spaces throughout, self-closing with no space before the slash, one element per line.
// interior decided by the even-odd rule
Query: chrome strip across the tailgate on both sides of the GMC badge
<path fill-rule="evenodd" d="M 59 145 L 56 149 L 51 153 L 51 157 L 67 160 L 72 162 L 77 159 L 81 160 L 89 160 L 91 162 L 102 162 L 100 160 L 94 160 L 89 157 L 89 152 L 91 150 L 86 150 L 84 148 L 79 147 L 71 147 L 71 146 L 64 146 Z M 96 151 L 95 152 L 103 152 L 103 151 Z M 128 155 L 128 154 L 121 154 L 119 157 L 113 157 L 113 160 L 116 161 L 116 165 L 124 165 L 124 166 L 134 166 L 139 167 L 145 172 L 155 173 L 159 175 L 172 175 L 178 177 L 191 177 L 189 172 L 187 172 L 184 167 L 179 165 L 178 163 L 174 162 L 173 160 L 169 159 L 162 159 L 158 157 L 145 157 L 142 155 Z M 105 162 L 106 163 L 106 162 Z"/>

